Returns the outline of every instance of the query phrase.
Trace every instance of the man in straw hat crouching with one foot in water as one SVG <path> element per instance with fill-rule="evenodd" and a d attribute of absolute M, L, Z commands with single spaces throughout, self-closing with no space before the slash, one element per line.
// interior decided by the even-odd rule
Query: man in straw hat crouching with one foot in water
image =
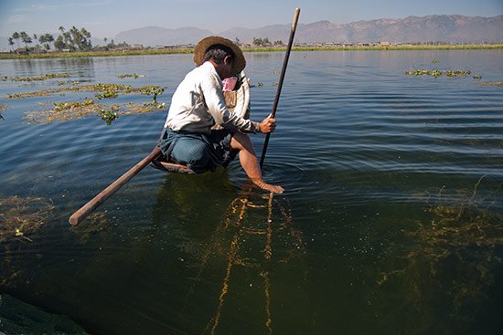
<path fill-rule="evenodd" d="M 265 183 L 249 132 L 269 133 L 276 120 L 245 120 L 225 106 L 222 79 L 241 73 L 246 61 L 241 48 L 223 37 L 206 37 L 194 50 L 197 68 L 178 85 L 161 137 L 167 161 L 187 165 L 195 173 L 226 167 L 239 154 L 244 172 L 263 190 L 281 194 L 284 188 Z M 219 124 L 223 130 L 211 127 Z"/>

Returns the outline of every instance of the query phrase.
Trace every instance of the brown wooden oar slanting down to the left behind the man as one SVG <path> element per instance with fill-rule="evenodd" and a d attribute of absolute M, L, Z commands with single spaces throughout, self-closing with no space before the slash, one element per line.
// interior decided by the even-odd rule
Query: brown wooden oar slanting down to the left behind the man
<path fill-rule="evenodd" d="M 80 209 L 70 216 L 70 224 L 71 225 L 79 225 L 82 220 L 84 220 L 87 215 L 90 215 L 92 211 L 98 208 L 101 204 L 103 204 L 108 198 L 112 196 L 115 192 L 117 192 L 121 187 L 123 187 L 124 183 L 129 182 L 131 178 L 134 177 L 137 173 L 142 171 L 142 169 L 148 165 L 149 162 L 152 162 L 157 156 L 161 154 L 161 149 L 159 147 L 155 147 L 155 149 L 150 152 L 148 156 L 146 156 L 142 161 L 138 162 L 134 167 L 132 167 L 127 173 L 124 173 L 119 179 L 115 182 L 111 183 L 107 188 L 105 188 L 100 194 L 96 195 L 92 200 L 84 204 Z"/>

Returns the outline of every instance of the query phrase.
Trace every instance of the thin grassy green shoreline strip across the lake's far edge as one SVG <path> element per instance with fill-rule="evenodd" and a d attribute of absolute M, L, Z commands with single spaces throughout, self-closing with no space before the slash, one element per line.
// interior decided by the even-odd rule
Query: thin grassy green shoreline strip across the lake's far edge
<path fill-rule="evenodd" d="M 490 45 L 441 45 L 441 46 L 389 46 L 389 47 L 293 47 L 292 51 L 401 51 L 401 50 L 492 50 L 503 49 L 503 44 Z M 285 51 L 286 47 L 245 47 L 244 52 L 272 52 Z M 119 57 L 119 56 L 147 56 L 191 54 L 194 48 L 163 48 L 139 50 L 109 50 L 86 52 L 58 52 L 46 54 L 18 55 L 13 52 L 0 53 L 0 59 L 29 59 L 29 58 L 83 58 L 83 57 Z"/>

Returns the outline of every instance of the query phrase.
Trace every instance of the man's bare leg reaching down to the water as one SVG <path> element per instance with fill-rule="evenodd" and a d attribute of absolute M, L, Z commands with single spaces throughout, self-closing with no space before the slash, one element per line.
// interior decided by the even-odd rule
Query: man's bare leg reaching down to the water
<path fill-rule="evenodd" d="M 230 141 L 230 148 L 240 152 L 242 169 L 246 175 L 248 175 L 248 178 L 252 180 L 252 183 L 262 188 L 262 190 L 270 191 L 275 194 L 283 193 L 284 188 L 280 185 L 273 185 L 263 181 L 259 160 L 257 159 L 257 154 L 253 149 L 252 140 L 250 140 L 248 135 L 239 131 L 236 132 Z"/>

